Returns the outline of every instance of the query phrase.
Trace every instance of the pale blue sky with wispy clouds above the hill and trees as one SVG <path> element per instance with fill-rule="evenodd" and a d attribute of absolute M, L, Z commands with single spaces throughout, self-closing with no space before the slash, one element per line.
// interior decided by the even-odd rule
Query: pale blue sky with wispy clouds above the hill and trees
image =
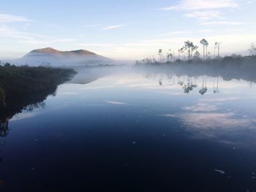
<path fill-rule="evenodd" d="M 222 55 L 249 54 L 256 0 L 1 0 L 0 58 L 31 50 L 90 50 L 119 60 L 157 57 L 190 40 L 221 42 Z"/>

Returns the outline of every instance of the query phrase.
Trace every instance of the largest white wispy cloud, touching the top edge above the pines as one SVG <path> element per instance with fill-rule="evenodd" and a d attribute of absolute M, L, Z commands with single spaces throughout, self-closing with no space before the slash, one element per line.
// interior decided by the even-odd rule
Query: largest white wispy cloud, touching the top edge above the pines
<path fill-rule="evenodd" d="M 237 8 L 239 5 L 234 0 L 182 0 L 170 7 L 163 7 L 161 10 L 200 10 L 200 9 L 221 9 Z"/>

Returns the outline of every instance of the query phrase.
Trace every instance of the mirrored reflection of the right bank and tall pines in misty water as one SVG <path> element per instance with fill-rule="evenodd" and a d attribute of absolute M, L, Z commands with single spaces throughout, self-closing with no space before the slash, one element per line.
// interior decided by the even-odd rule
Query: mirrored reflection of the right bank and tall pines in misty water
<path fill-rule="evenodd" d="M 209 91 L 209 85 L 212 82 L 212 93 L 220 93 L 219 80 L 232 81 L 244 80 L 252 87 L 256 82 L 256 75 L 254 72 L 239 71 L 238 69 L 208 69 L 207 66 L 136 66 L 138 72 L 143 73 L 143 77 L 150 80 L 159 80 L 159 85 L 168 84 L 173 85 L 177 82 L 181 85 L 184 93 L 192 93 L 198 85 L 202 85 L 198 93 L 204 95 Z M 178 79 L 178 80 L 177 80 Z M 196 83 L 196 81 L 198 82 Z M 195 83 L 194 83 L 195 82 Z M 195 85 L 193 85 L 195 84 Z"/>

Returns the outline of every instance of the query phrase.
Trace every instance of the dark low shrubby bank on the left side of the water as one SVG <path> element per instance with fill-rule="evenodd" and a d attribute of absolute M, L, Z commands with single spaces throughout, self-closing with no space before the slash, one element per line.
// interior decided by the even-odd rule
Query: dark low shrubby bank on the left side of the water
<path fill-rule="evenodd" d="M 73 69 L 0 66 L 0 123 L 21 110 L 38 107 L 59 84 L 75 74 Z"/>

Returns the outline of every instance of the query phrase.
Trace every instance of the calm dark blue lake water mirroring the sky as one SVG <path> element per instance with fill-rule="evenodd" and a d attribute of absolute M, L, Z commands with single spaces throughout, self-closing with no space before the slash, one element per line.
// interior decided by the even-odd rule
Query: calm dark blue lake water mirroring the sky
<path fill-rule="evenodd" d="M 256 191 L 254 82 L 78 71 L 1 125 L 0 191 Z"/>

